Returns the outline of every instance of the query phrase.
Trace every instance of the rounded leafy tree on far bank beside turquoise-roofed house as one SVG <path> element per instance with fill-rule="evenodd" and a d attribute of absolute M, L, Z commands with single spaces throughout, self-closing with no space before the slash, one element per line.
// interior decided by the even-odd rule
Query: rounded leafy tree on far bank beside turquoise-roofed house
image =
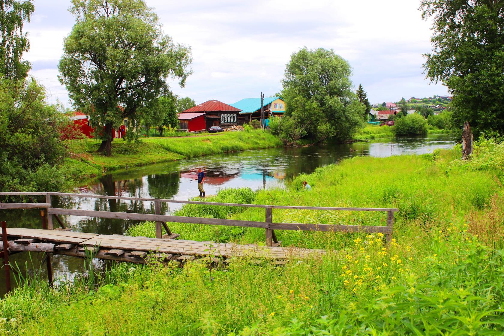
<path fill-rule="evenodd" d="M 351 73 L 333 50 L 305 47 L 293 53 L 282 81 L 285 115 L 318 141 L 347 140 L 363 127 L 365 113 L 352 91 Z"/>

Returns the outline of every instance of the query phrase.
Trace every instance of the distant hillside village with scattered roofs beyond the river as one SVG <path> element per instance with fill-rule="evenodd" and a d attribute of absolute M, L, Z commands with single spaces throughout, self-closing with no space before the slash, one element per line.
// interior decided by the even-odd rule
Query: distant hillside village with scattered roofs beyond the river
<path fill-rule="evenodd" d="M 450 106 L 452 96 L 433 96 L 428 98 L 411 97 L 406 100 L 402 98 L 397 102 L 374 103 L 367 116 L 368 123 L 379 124 L 390 120 L 391 116 L 397 115 L 399 112 L 403 114 L 415 113 L 418 109 L 432 109 L 433 114 L 437 115 Z"/>

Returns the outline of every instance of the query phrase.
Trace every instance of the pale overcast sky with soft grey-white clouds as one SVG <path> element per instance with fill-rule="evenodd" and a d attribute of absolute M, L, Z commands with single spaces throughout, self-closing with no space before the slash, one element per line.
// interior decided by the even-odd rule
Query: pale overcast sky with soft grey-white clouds
<path fill-rule="evenodd" d="M 234 103 L 281 90 L 290 55 L 306 46 L 323 47 L 348 60 L 355 88 L 361 83 L 371 103 L 401 97 L 446 95 L 422 74 L 422 53 L 431 50 L 430 24 L 417 0 L 147 0 L 166 34 L 191 46 L 194 74 L 172 90 L 196 103 Z M 49 102 L 71 102 L 57 81 L 63 39 L 74 24 L 70 1 L 35 0 L 29 33 L 31 75 L 47 89 Z"/>

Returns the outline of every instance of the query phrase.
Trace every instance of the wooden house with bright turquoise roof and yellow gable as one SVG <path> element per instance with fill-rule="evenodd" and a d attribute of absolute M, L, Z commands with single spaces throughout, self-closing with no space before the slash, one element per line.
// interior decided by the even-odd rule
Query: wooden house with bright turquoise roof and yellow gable
<path fill-rule="evenodd" d="M 247 115 L 248 120 L 261 119 L 261 98 L 244 98 L 230 105 L 240 109 L 240 115 Z M 281 97 L 264 97 L 263 107 L 266 126 L 270 116 L 282 117 L 285 113 L 285 102 Z"/>

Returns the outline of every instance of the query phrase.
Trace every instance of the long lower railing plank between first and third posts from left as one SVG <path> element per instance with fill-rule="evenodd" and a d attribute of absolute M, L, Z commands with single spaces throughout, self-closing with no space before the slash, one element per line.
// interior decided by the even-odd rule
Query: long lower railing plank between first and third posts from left
<path fill-rule="evenodd" d="M 204 217 L 133 214 L 133 213 L 118 213 L 109 211 L 74 210 L 74 209 L 58 209 L 58 208 L 49 208 L 48 213 L 51 215 L 56 214 L 56 215 L 70 215 L 70 216 L 83 216 L 83 217 L 97 217 L 97 218 L 114 218 L 114 219 L 127 219 L 137 221 L 164 221 L 164 222 L 176 222 L 176 223 L 266 228 L 266 223 L 264 222 L 238 221 L 232 219 L 218 219 L 218 218 L 204 218 Z"/>

